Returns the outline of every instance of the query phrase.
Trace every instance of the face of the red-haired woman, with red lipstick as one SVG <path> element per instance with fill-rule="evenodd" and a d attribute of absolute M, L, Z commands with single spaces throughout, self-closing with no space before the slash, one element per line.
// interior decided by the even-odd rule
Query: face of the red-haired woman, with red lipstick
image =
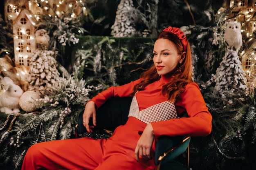
<path fill-rule="evenodd" d="M 177 64 L 182 62 L 185 57 L 184 53 L 182 55 L 177 53 L 173 42 L 162 38 L 155 41 L 153 55 L 155 68 L 159 75 L 171 73 L 177 68 Z"/>

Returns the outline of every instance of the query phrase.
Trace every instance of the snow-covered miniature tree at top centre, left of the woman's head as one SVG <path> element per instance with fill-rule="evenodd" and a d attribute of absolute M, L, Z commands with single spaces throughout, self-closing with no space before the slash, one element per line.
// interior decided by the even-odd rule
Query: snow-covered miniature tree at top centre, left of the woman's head
<path fill-rule="evenodd" d="M 121 0 L 117 7 L 115 23 L 111 26 L 111 35 L 115 37 L 129 37 L 135 33 L 132 11 L 135 11 L 132 0 Z"/>

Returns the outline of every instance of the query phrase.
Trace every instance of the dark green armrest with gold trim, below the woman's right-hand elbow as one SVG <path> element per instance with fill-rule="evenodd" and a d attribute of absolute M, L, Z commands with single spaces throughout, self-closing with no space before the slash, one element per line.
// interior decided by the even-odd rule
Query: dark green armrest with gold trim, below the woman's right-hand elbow
<path fill-rule="evenodd" d="M 155 149 L 155 164 L 167 162 L 186 151 L 191 137 L 159 137 Z"/>

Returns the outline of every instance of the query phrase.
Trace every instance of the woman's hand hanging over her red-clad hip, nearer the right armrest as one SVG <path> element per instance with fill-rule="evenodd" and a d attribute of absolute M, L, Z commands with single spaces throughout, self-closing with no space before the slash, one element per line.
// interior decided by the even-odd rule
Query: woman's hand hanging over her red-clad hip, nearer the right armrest
<path fill-rule="evenodd" d="M 151 124 L 144 129 L 135 148 L 135 158 L 139 162 L 139 155 L 144 159 L 152 159 L 150 152 L 155 139 L 154 130 Z"/>

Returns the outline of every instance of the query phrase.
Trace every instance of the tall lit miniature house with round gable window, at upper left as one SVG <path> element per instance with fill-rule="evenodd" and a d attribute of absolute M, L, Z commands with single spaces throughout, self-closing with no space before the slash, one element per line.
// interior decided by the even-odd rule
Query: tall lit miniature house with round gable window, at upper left
<path fill-rule="evenodd" d="M 15 66 L 29 66 L 29 58 L 36 51 L 34 27 L 36 22 L 34 16 L 27 9 L 22 9 L 13 21 Z"/>

